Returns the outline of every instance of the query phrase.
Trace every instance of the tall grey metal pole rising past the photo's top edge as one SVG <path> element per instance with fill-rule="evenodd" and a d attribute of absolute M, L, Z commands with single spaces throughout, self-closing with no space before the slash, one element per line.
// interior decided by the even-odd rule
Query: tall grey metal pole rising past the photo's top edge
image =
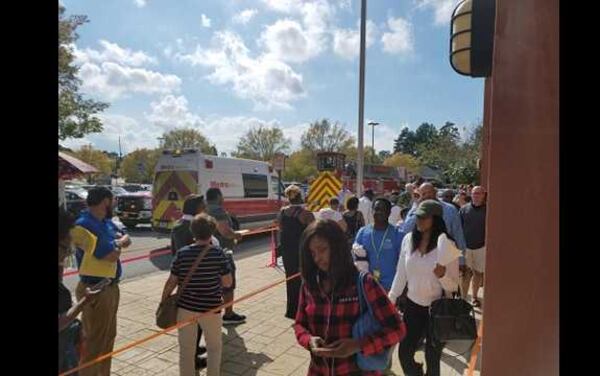
<path fill-rule="evenodd" d="M 364 114 L 365 114 L 365 34 L 367 25 L 367 0 L 361 0 L 360 8 L 360 65 L 358 83 L 358 161 L 356 195 L 361 196 L 364 177 Z"/>

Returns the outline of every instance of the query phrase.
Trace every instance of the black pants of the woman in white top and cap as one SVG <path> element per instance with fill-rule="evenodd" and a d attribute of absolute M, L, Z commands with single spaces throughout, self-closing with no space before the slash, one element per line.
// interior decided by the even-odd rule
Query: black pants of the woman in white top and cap
<path fill-rule="evenodd" d="M 402 371 L 406 376 L 423 375 L 421 367 L 415 362 L 415 352 L 421 338 L 425 337 L 425 363 L 427 376 L 440 376 L 440 360 L 443 345 L 434 344 L 429 335 L 429 307 L 423 307 L 406 299 L 404 310 L 406 337 L 398 347 L 398 357 Z"/>

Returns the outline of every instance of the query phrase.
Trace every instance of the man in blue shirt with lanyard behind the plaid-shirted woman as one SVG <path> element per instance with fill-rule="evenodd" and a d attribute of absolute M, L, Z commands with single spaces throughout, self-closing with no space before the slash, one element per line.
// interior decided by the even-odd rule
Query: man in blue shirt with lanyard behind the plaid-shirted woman
<path fill-rule="evenodd" d="M 373 203 L 374 223 L 356 234 L 352 253 L 359 270 L 370 272 L 386 291 L 392 287 L 400 258 L 402 234 L 389 224 L 392 203 L 377 198 Z"/>

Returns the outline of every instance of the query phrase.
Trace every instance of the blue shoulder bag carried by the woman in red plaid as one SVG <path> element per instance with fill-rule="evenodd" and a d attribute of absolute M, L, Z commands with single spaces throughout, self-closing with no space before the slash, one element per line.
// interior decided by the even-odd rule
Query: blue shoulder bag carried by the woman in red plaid
<path fill-rule="evenodd" d="M 356 282 L 358 301 L 360 305 L 360 316 L 352 326 L 352 338 L 356 340 L 360 340 L 383 329 L 373 314 L 373 308 L 367 301 L 367 294 L 365 292 L 365 275 L 367 275 L 367 273 L 360 272 Z M 356 362 L 358 363 L 358 367 L 363 371 L 383 371 L 388 367 L 393 350 L 393 346 L 388 347 L 382 352 L 373 354 L 371 356 L 364 356 L 359 351 L 356 353 Z"/>

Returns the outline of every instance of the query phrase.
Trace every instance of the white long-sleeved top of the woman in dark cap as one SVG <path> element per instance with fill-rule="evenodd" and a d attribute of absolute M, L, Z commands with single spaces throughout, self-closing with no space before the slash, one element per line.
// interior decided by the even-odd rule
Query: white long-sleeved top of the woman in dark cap
<path fill-rule="evenodd" d="M 441 298 L 443 290 L 453 292 L 458 289 L 460 251 L 446 234 L 440 235 L 436 248 L 425 255 L 412 249 L 412 233 L 408 233 L 402 240 L 396 276 L 388 293 L 392 302 L 402 295 L 407 284 L 408 298 L 423 307 L 429 307 L 434 300 Z M 438 278 L 433 274 L 436 264 L 446 267 L 444 277 Z"/>

